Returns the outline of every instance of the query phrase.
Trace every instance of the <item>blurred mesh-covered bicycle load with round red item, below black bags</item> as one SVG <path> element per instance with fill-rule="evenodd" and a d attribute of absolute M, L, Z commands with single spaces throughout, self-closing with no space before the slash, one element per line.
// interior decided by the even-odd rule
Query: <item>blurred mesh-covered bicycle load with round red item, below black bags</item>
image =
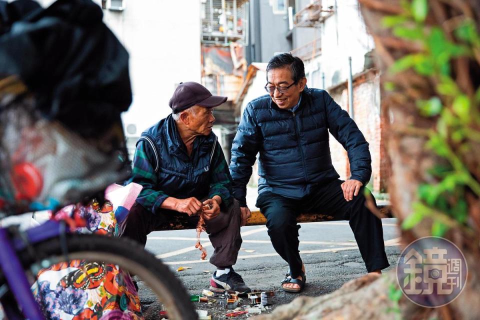
<path fill-rule="evenodd" d="M 0 79 L 0 211 L 75 203 L 127 175 L 121 121 L 85 138 L 34 107 L 15 77 Z"/>

